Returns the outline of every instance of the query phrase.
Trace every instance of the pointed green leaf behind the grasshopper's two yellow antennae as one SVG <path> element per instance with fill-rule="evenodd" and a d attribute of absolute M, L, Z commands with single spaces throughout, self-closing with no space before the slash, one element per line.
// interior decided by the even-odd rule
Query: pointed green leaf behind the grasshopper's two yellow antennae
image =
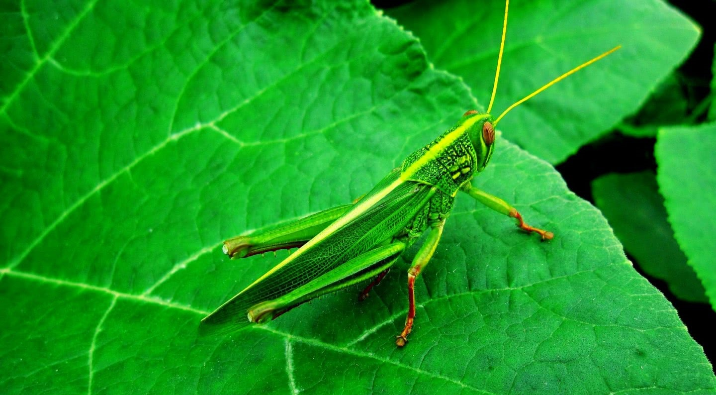
<path fill-rule="evenodd" d="M 437 67 L 463 77 L 487 103 L 504 10 L 503 0 L 423 0 L 389 14 L 420 37 Z M 493 113 L 621 45 L 619 52 L 531 99 L 501 123 L 519 146 L 561 162 L 636 112 L 684 60 L 699 32 L 694 22 L 657 0 L 512 1 Z"/>

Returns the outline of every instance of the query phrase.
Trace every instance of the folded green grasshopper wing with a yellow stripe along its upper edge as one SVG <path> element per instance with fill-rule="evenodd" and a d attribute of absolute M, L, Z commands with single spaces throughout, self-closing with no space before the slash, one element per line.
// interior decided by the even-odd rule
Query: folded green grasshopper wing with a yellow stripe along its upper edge
<path fill-rule="evenodd" d="M 399 169 L 392 171 L 324 231 L 206 316 L 201 332 L 220 334 L 246 328 L 252 323 L 248 310 L 257 303 L 280 298 L 390 242 L 410 224 L 435 191 L 430 185 L 400 179 Z M 291 307 L 304 301 L 297 300 Z"/>

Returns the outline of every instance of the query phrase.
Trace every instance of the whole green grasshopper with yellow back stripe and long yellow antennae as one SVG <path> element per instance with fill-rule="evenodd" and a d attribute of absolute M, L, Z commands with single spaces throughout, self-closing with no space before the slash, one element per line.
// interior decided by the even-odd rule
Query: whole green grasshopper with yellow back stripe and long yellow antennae
<path fill-rule="evenodd" d="M 495 148 L 495 126 L 506 113 L 619 47 L 548 82 L 493 118 L 490 110 L 500 75 L 508 6 L 509 1 L 505 3 L 500 53 L 487 112 L 466 112 L 455 127 L 410 154 L 402 166 L 390 171 L 352 204 L 320 211 L 266 232 L 226 240 L 223 252 L 232 258 L 299 249 L 203 318 L 203 333 L 231 333 L 251 323 L 267 323 L 321 295 L 368 283 L 359 296 L 364 299 L 400 254 L 429 227 L 430 234 L 407 272 L 407 318 L 395 341 L 397 346 L 405 346 L 415 318 L 415 279 L 430 262 L 459 191 L 516 219 L 517 226 L 528 233 L 535 232 L 543 240 L 553 237 L 551 232 L 526 224 L 513 206 L 475 188 L 470 180 L 490 161 Z"/>

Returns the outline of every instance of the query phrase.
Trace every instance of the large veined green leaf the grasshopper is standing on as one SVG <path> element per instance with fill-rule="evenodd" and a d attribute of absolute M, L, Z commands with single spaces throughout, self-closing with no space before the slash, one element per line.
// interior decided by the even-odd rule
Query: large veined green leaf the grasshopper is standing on
<path fill-rule="evenodd" d="M 1 393 L 716 392 L 599 212 L 503 140 L 476 184 L 556 238 L 460 196 L 405 349 L 405 261 L 364 303 L 199 338 L 286 256 L 221 240 L 364 193 L 475 106 L 467 87 L 360 2 L 11 11 L 36 52 L 2 91 Z"/>

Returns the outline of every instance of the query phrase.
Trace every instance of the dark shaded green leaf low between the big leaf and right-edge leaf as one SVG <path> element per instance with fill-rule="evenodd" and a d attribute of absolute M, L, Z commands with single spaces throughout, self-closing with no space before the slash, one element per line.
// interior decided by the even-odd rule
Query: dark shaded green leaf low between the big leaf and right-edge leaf
<path fill-rule="evenodd" d="M 616 237 L 645 272 L 668 282 L 679 298 L 707 302 L 703 285 L 674 239 L 654 173 L 607 174 L 594 180 L 592 193 Z"/>

